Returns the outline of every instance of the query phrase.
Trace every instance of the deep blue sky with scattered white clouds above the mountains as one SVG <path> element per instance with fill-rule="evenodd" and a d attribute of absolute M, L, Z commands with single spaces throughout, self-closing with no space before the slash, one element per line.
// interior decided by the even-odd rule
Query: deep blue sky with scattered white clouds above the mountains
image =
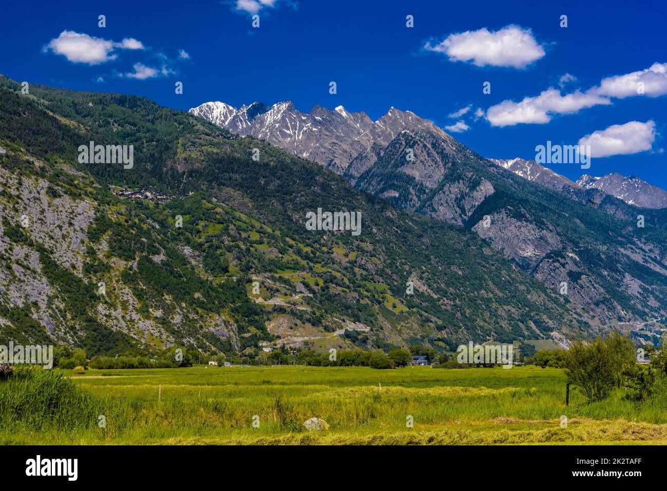
<path fill-rule="evenodd" d="M 303 111 L 344 105 L 378 119 L 394 106 L 450 127 L 487 157 L 532 159 L 546 141 L 581 140 L 608 156 L 588 171 L 548 167 L 571 179 L 617 171 L 667 188 L 664 5 L 510 3 L 8 2 L 0 73 L 183 110 L 291 100 Z"/>

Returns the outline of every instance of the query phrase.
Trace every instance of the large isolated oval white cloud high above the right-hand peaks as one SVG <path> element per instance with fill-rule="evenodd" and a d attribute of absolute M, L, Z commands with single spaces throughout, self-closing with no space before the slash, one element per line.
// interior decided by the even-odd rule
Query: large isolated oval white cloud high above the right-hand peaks
<path fill-rule="evenodd" d="M 478 67 L 526 68 L 545 54 L 532 31 L 518 25 L 508 25 L 499 31 L 484 27 L 450 34 L 436 45 L 426 43 L 424 49 L 444 53 L 451 61 L 470 61 Z"/>

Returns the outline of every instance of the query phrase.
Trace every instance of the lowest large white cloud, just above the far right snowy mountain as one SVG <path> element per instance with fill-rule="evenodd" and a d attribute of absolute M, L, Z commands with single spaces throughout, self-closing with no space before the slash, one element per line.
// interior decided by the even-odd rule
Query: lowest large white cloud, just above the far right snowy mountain
<path fill-rule="evenodd" d="M 624 125 L 613 125 L 594 131 L 581 138 L 579 145 L 590 145 L 591 157 L 609 157 L 650 150 L 655 139 L 654 121 L 630 121 Z"/>

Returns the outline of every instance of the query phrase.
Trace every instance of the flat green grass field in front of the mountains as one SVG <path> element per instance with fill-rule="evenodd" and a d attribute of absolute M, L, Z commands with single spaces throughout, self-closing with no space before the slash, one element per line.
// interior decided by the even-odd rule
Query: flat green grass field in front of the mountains
<path fill-rule="evenodd" d="M 0 444 L 667 443 L 664 400 L 638 404 L 619 393 L 587 404 L 574 389 L 566 407 L 564 372 L 534 366 L 193 367 L 65 374 L 94 410 L 76 412 L 78 419 L 70 424 L 62 421 L 67 407 L 59 408 L 57 422 L 53 412 L 40 416 L 39 409 L 29 418 L 19 415 L 13 424 L 0 424 Z M 252 425 L 255 415 L 259 428 Z M 562 415 L 568 418 L 566 428 Z M 99 416 L 105 417 L 105 428 L 99 427 Z M 313 416 L 325 420 L 329 430 L 306 430 L 303 422 Z M 408 416 L 414 419 L 412 428 L 406 426 Z"/>

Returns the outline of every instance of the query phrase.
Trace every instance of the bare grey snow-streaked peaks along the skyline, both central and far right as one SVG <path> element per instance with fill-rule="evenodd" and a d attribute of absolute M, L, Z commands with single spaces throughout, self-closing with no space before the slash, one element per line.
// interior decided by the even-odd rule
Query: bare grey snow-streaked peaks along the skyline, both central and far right
<path fill-rule="evenodd" d="M 233 133 L 251 135 L 299 157 L 317 161 L 327 169 L 345 175 L 352 183 L 375 163 L 401 131 L 424 130 L 443 139 L 451 138 L 431 121 L 396 107 L 391 107 L 375 122 L 363 111 L 350 113 L 343 106 L 333 111 L 315 106 L 310 113 L 304 113 L 295 109 L 291 101 L 272 106 L 253 102 L 239 109 L 212 101 L 193 107 L 189 112 Z M 630 205 L 653 209 L 667 207 L 667 191 L 632 175 L 610 173 L 592 177 L 584 174 L 574 183 L 534 160 L 490 161 L 556 191 L 596 188 Z"/>

